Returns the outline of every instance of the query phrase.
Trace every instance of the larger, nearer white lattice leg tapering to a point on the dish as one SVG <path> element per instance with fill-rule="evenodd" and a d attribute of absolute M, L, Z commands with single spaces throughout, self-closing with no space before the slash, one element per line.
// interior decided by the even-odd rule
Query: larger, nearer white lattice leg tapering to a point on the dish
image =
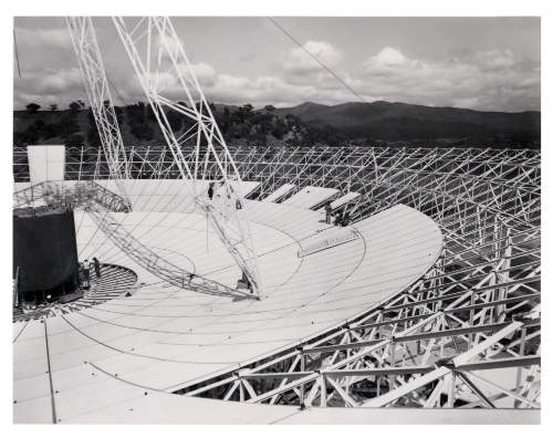
<path fill-rule="evenodd" d="M 240 173 L 170 19 L 145 17 L 127 25 L 118 17 L 113 22 L 180 176 L 192 182 L 196 205 L 209 217 L 220 241 L 247 275 L 252 292 L 259 295 L 261 278 L 250 226 L 247 215 L 240 215 L 244 202 L 233 186 L 241 182 Z M 177 102 L 175 95 L 186 103 Z M 171 126 L 171 112 L 192 122 L 181 135 Z M 209 181 L 209 190 L 204 181 Z"/>

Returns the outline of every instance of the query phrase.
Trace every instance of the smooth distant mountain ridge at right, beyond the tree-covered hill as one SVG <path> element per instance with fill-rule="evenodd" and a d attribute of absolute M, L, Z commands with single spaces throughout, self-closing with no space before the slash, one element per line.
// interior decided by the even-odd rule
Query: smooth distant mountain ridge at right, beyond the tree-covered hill
<path fill-rule="evenodd" d="M 500 113 L 374 102 L 321 105 L 312 102 L 278 108 L 293 114 L 310 127 L 330 126 L 347 138 L 386 142 L 422 139 L 498 139 L 539 142 L 541 113 Z"/>

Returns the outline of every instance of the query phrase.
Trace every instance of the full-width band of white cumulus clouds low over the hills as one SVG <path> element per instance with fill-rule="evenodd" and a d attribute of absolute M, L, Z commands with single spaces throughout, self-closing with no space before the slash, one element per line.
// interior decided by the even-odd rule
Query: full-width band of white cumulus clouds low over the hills
<path fill-rule="evenodd" d="M 48 44 L 71 44 L 66 32 L 52 32 Z M 400 48 L 384 45 L 374 53 L 367 53 L 364 60 L 352 63 L 344 61 L 345 54 L 340 48 L 325 41 L 307 41 L 304 49 L 366 101 L 385 100 L 490 111 L 540 107 L 540 65 L 518 56 L 511 50 L 465 50 L 430 59 L 411 56 Z M 190 69 L 211 102 L 284 106 L 305 101 L 338 104 L 358 100 L 305 50 L 291 48 L 283 51 L 278 66 L 269 74 L 229 74 L 202 61 L 191 64 Z M 187 69 L 186 65 L 181 67 L 182 71 Z M 149 80 L 157 81 L 157 88 L 165 96 L 186 101 L 174 72 L 153 75 Z M 131 67 L 121 70 L 113 82 L 118 87 L 117 93 L 112 91 L 114 97 L 121 94 L 127 102 L 146 101 Z M 34 71 L 25 72 L 23 80 L 17 81 L 14 104 L 24 107 L 34 101 L 41 105 L 56 102 L 64 106 L 84 96 L 77 69 L 51 69 L 44 72 L 35 66 Z"/>

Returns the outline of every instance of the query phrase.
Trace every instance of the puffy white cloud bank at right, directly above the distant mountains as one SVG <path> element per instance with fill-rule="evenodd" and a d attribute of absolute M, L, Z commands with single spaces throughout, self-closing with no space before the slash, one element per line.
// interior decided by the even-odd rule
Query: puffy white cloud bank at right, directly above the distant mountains
<path fill-rule="evenodd" d="M 363 62 L 355 86 L 383 100 L 435 106 L 523 111 L 540 105 L 540 70 L 510 50 L 421 60 L 386 46 Z"/>

